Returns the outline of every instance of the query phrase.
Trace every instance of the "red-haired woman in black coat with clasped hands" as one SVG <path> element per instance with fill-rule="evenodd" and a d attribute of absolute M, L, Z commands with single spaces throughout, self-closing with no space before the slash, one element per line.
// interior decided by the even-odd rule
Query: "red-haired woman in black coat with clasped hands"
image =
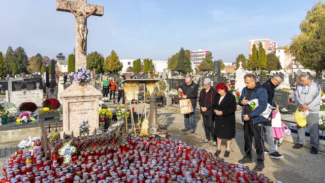
<path fill-rule="evenodd" d="M 227 139 L 227 146 L 224 152 L 224 157 L 229 157 L 230 144 L 236 133 L 236 117 L 237 108 L 235 96 L 228 92 L 228 86 L 224 83 L 218 83 L 216 90 L 219 95 L 216 96 L 214 103 L 215 109 L 215 135 L 217 136 L 217 150 L 215 156 L 221 153 L 221 141 Z"/>

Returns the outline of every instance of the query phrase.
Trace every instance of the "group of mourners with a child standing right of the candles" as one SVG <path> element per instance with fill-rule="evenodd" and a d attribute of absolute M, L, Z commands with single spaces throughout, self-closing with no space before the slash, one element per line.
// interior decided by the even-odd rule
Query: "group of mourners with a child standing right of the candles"
<path fill-rule="evenodd" d="M 318 111 L 320 101 L 320 86 L 313 82 L 307 73 L 299 75 L 301 83 L 297 86 L 294 99 L 300 111 L 309 111 L 307 125 L 310 131 L 311 154 L 317 154 L 319 145 L 318 136 Z M 238 162 L 241 164 L 252 163 L 252 138 L 254 137 L 254 148 L 257 156 L 255 168 L 262 171 L 265 167 L 265 154 L 271 158 L 283 158 L 277 150 L 282 145 L 284 130 L 287 127 L 281 121 L 279 106 L 273 102 L 274 91 L 283 81 L 282 75 L 274 75 L 271 79 L 261 84 L 256 82 L 254 74 L 244 76 L 246 87 L 241 91 L 238 104 L 242 106 L 241 119 L 244 123 L 244 151 L 245 156 Z M 224 157 L 230 156 L 230 146 L 236 134 L 237 110 L 236 97 L 228 91 L 225 83 L 218 83 L 216 87 L 211 86 L 209 78 L 204 79 L 203 89 L 198 97 L 199 87 L 191 77 L 185 79 L 185 83 L 178 88 L 182 99 L 189 99 L 193 112 L 184 114 L 184 126 L 182 132 L 194 133 L 196 130 L 195 109 L 199 98 L 200 111 L 206 140 L 203 143 L 212 142 L 216 147 L 215 156 L 221 153 L 221 142 L 226 141 Z M 252 102 L 254 101 L 254 104 Z M 267 108 L 272 108 L 268 115 L 262 115 Z M 286 128 L 285 128 L 286 127 Z M 264 135 L 266 135 L 269 149 L 265 147 Z M 305 144 L 305 127 L 298 127 L 298 140 L 293 148 L 298 149 Z"/>

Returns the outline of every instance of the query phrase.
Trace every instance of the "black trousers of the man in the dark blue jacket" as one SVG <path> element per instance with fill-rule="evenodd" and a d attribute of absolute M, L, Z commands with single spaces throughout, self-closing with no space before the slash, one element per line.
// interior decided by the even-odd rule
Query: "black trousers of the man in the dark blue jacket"
<path fill-rule="evenodd" d="M 252 121 L 244 121 L 244 139 L 246 157 L 252 157 L 252 137 L 255 141 L 257 162 L 264 162 L 264 123 L 253 124 Z"/>

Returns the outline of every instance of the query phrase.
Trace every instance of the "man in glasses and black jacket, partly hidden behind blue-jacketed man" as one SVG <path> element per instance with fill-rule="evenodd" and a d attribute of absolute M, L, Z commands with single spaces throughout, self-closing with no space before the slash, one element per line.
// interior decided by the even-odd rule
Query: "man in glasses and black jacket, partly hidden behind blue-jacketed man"
<path fill-rule="evenodd" d="M 277 107 L 277 104 L 275 104 L 273 102 L 273 98 L 274 98 L 274 90 L 275 88 L 280 85 L 280 83 L 283 81 L 282 76 L 280 75 L 274 75 L 271 79 L 267 80 L 265 83 L 263 83 L 263 87 L 265 87 L 265 89 L 268 92 L 268 103 L 273 106 L 273 107 Z M 275 109 L 278 110 L 278 109 Z M 265 132 L 266 132 L 266 137 L 267 137 L 267 141 L 269 144 L 269 148 L 270 151 L 268 152 L 271 156 L 271 158 L 274 159 L 280 159 L 283 158 L 283 155 L 279 154 L 278 151 L 276 151 L 276 146 L 274 144 L 274 140 L 273 140 L 273 129 L 272 129 L 272 124 L 271 124 L 271 116 L 272 116 L 272 112 L 268 118 L 268 121 L 266 121 L 264 123 L 264 128 L 265 128 Z M 265 150 L 265 152 L 267 152 Z"/>

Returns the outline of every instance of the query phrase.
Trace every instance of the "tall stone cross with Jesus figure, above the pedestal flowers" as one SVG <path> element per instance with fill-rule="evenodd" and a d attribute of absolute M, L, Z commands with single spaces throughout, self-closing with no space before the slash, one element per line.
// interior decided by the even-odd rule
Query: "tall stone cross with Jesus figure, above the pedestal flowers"
<path fill-rule="evenodd" d="M 103 16 L 104 7 L 87 4 L 87 0 L 56 0 L 56 11 L 71 12 L 75 15 L 76 70 L 87 66 L 87 18 L 91 15 Z"/>

